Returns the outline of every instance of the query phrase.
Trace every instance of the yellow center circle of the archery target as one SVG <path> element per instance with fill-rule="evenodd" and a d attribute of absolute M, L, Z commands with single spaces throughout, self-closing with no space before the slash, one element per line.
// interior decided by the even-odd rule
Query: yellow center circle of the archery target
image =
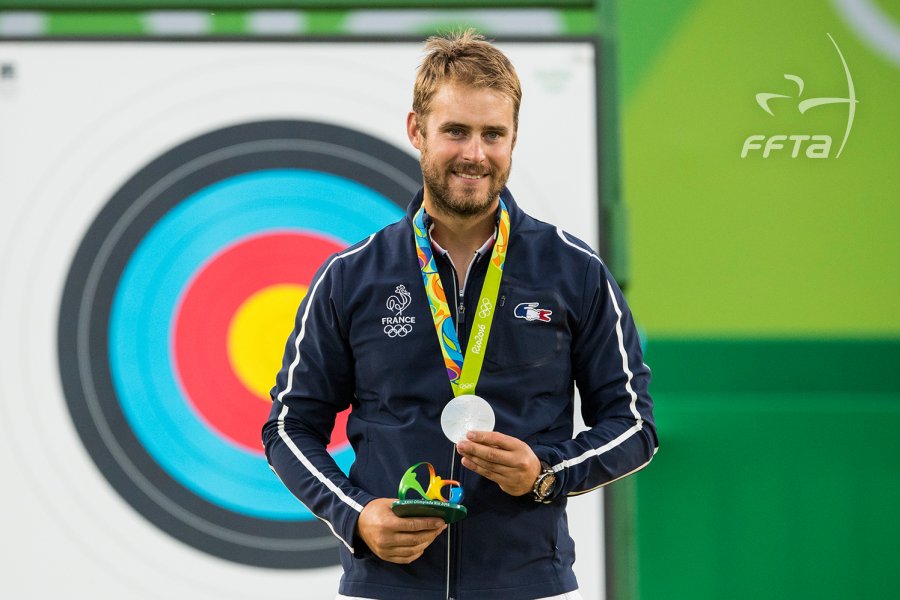
<path fill-rule="evenodd" d="M 294 284 L 263 288 L 241 304 L 228 327 L 232 369 L 241 383 L 262 399 L 269 399 L 269 390 L 275 385 L 284 344 L 306 290 Z"/>

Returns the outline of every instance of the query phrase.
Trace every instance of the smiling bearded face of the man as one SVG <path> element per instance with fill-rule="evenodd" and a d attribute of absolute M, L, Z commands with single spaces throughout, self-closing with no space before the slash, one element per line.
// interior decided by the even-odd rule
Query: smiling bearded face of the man
<path fill-rule="evenodd" d="M 444 84 L 428 114 L 409 114 L 407 133 L 422 153 L 426 207 L 458 217 L 494 210 L 512 168 L 512 100 L 489 88 Z"/>

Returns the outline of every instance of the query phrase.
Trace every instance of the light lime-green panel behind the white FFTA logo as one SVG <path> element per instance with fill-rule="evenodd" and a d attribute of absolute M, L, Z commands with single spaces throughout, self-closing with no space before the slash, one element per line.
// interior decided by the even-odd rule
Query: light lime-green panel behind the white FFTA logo
<path fill-rule="evenodd" d="M 631 5 L 621 4 L 621 22 Z M 649 68 L 620 31 L 622 71 L 648 69 L 622 109 L 629 298 L 648 335 L 900 334 L 900 77 L 832 3 L 697 2 Z M 635 25 L 636 26 L 636 25 Z M 826 133 L 846 105 L 804 115 L 758 92 L 859 98 L 840 158 L 741 159 L 751 134 Z"/>

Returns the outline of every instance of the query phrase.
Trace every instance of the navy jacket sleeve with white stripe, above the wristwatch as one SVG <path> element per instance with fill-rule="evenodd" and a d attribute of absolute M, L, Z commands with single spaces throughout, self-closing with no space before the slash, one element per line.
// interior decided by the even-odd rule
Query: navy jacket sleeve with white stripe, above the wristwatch
<path fill-rule="evenodd" d="M 572 369 L 588 430 L 534 448 L 556 472 L 554 497 L 594 490 L 647 466 L 658 441 L 650 369 L 631 311 L 609 270 L 593 253 L 584 281 Z"/>

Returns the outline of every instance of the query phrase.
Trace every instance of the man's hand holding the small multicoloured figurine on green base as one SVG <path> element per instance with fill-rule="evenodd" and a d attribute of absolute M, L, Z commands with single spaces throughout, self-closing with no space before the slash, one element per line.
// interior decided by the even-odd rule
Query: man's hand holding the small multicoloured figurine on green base
<path fill-rule="evenodd" d="M 405 565 L 422 556 L 447 524 L 431 517 L 398 517 L 391 511 L 393 503 L 390 498 L 376 498 L 366 504 L 356 533 L 378 558 Z"/>

